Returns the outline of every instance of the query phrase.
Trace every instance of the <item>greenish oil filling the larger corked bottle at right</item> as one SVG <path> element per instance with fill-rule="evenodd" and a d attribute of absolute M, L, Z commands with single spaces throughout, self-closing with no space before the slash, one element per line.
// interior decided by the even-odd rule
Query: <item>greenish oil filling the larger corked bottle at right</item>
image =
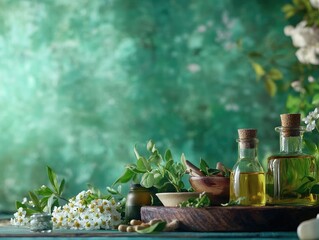
<path fill-rule="evenodd" d="M 310 155 L 272 156 L 267 169 L 268 203 L 273 205 L 316 205 L 310 193 L 316 182 L 316 160 Z"/>

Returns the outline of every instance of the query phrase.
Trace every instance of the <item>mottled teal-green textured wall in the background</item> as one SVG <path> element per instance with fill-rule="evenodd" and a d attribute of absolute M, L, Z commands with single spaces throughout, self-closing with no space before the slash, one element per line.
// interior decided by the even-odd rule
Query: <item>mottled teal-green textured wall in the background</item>
<path fill-rule="evenodd" d="M 237 128 L 255 127 L 260 160 L 277 151 L 285 96 L 246 53 L 290 44 L 283 2 L 1 0 L 0 209 L 47 184 L 46 165 L 69 196 L 104 190 L 149 139 L 231 167 Z"/>

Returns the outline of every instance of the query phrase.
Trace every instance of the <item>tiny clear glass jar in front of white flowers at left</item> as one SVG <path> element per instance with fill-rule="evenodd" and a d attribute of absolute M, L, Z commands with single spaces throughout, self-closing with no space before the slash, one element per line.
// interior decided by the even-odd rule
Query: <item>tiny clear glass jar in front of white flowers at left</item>
<path fill-rule="evenodd" d="M 33 232 L 51 232 L 52 216 L 48 213 L 36 213 L 30 217 L 30 230 Z"/>

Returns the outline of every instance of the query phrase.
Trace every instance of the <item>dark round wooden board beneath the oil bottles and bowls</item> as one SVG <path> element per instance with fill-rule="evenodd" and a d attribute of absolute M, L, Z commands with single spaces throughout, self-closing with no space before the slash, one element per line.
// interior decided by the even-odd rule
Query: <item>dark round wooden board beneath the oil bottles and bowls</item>
<path fill-rule="evenodd" d="M 180 208 L 145 206 L 143 221 L 180 221 L 180 230 L 195 232 L 296 231 L 305 220 L 315 218 L 319 206 L 207 207 Z"/>

